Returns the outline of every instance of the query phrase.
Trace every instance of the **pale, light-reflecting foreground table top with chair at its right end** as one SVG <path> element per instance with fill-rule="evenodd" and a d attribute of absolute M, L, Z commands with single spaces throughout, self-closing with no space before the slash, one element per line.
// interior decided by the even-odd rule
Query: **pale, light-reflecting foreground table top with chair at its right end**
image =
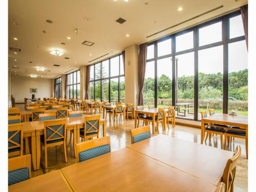
<path fill-rule="evenodd" d="M 157 135 L 127 147 L 216 186 L 227 160 L 233 155 L 229 151 L 166 135 Z"/>

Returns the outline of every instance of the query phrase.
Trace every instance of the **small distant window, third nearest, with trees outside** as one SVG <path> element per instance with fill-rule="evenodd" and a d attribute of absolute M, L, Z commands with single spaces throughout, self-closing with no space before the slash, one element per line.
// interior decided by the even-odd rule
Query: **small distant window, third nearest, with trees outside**
<path fill-rule="evenodd" d="M 80 99 L 80 71 L 68 74 L 67 90 L 70 99 Z"/>

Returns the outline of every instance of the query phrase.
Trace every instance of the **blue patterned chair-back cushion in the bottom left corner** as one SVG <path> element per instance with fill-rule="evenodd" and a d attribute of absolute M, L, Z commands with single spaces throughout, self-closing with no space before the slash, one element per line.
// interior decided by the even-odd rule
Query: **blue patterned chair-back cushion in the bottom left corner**
<path fill-rule="evenodd" d="M 18 168 L 8 172 L 8 185 L 13 185 L 29 179 L 29 168 Z"/>

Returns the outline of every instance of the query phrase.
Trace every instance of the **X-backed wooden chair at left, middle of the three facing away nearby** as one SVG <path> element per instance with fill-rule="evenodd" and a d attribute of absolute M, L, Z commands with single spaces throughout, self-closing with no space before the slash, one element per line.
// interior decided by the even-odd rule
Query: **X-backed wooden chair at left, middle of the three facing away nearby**
<path fill-rule="evenodd" d="M 65 162 L 67 163 L 66 151 L 66 119 L 56 119 L 44 122 L 44 136 L 40 138 L 41 144 L 45 146 L 45 163 L 47 162 L 47 148 L 56 145 L 63 145 Z M 63 152 L 63 151 L 62 151 Z"/>

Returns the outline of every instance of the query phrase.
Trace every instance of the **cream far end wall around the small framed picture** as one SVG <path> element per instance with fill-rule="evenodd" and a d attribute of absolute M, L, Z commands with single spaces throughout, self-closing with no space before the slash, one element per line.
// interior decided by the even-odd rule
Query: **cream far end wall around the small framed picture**
<path fill-rule="evenodd" d="M 52 96 L 52 79 L 16 77 L 11 78 L 11 94 L 15 97 L 16 103 L 24 103 L 24 98 L 31 98 L 30 88 L 37 88 L 36 98 Z"/>

